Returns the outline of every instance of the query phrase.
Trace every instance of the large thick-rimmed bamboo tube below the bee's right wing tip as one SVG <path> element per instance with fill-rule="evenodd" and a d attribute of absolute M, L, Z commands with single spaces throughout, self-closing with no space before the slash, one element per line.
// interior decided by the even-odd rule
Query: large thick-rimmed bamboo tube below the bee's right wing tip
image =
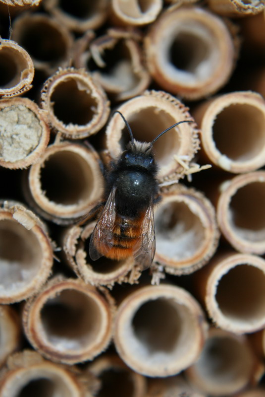
<path fill-rule="evenodd" d="M 114 343 L 122 360 L 150 377 L 177 374 L 200 354 L 204 314 L 184 289 L 147 286 L 125 298 L 117 310 Z"/>

